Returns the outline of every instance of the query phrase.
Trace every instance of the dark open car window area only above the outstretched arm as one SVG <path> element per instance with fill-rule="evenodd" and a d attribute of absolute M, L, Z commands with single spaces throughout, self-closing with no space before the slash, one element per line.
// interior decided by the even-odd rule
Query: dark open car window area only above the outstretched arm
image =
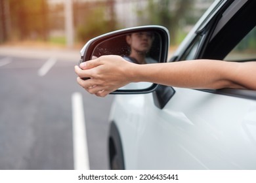
<path fill-rule="evenodd" d="M 241 8 L 235 12 L 232 11 L 232 16 L 224 16 L 226 11 L 219 14 L 215 19 L 217 24 L 213 25 L 215 29 L 211 27 L 211 31 L 208 32 L 210 39 L 200 58 L 232 61 L 255 59 L 253 58 L 255 56 L 249 56 L 249 54 L 245 56 L 245 52 L 249 52 L 251 48 L 253 48 L 255 53 L 255 47 L 253 47 L 253 44 L 255 44 L 256 25 L 255 7 L 256 1 L 246 1 Z M 248 48 L 245 48 L 245 43 Z M 240 56 L 244 55 L 244 58 L 236 58 L 238 50 L 240 49 L 241 51 L 241 46 L 244 49 L 244 53 L 240 52 Z"/>

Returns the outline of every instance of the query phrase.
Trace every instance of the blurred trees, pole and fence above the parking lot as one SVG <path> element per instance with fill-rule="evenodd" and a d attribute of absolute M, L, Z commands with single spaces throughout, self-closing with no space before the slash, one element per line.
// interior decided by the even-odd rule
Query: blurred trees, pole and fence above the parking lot
<path fill-rule="evenodd" d="M 163 25 L 182 41 L 213 0 L 1 0 L 0 44 L 37 41 L 75 46 L 102 33 Z"/>

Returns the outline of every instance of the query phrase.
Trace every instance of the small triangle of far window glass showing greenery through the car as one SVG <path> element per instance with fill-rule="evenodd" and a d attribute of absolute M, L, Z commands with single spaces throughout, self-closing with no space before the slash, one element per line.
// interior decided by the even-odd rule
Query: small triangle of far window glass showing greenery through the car
<path fill-rule="evenodd" d="M 256 27 L 224 58 L 227 61 L 256 60 Z"/>

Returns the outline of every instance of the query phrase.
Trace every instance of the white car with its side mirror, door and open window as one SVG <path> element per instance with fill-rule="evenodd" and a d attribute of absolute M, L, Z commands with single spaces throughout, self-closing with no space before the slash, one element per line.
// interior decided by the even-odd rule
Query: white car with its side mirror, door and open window
<path fill-rule="evenodd" d="M 169 61 L 255 61 L 255 45 L 250 43 L 256 39 L 255 9 L 255 0 L 215 1 Z M 154 49 L 160 49 L 150 56 L 167 61 L 168 31 L 158 26 L 93 39 L 81 50 L 82 61 L 102 54 L 125 55 L 116 50 L 125 48 L 117 41 L 135 31 L 153 31 Z M 114 93 L 120 95 L 109 118 L 111 169 L 256 169 L 255 91 L 139 83 Z"/>

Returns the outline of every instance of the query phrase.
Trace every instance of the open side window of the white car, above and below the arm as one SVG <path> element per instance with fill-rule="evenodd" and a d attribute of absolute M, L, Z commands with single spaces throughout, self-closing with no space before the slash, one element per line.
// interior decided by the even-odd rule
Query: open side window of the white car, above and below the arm
<path fill-rule="evenodd" d="M 236 2 L 240 2 L 235 0 Z M 234 1 L 234 3 L 236 3 Z M 221 14 L 205 27 L 206 41 L 199 50 L 198 58 L 225 61 L 256 61 L 256 1 L 245 1 L 239 9 L 232 10 L 232 16 Z M 235 10 L 235 11 L 234 11 Z M 205 92 L 256 100 L 253 90 L 221 89 Z"/>

